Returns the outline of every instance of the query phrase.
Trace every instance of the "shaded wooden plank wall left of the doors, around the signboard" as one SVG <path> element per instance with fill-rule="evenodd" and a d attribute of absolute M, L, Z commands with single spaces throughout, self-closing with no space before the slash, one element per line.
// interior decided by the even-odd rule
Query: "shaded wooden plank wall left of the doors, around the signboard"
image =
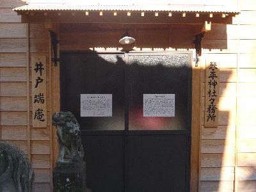
<path fill-rule="evenodd" d="M 21 0 L 0 1 L 0 140 L 15 143 L 28 154 L 35 172 L 35 191 L 51 191 L 50 121 L 47 128 L 31 127 L 28 63 L 32 55 L 47 56 L 49 77 L 48 33 L 42 24 L 21 23 L 21 17 L 12 8 L 23 4 Z M 48 97 L 48 111 L 49 106 Z M 49 112 L 47 116 L 49 119 Z"/>

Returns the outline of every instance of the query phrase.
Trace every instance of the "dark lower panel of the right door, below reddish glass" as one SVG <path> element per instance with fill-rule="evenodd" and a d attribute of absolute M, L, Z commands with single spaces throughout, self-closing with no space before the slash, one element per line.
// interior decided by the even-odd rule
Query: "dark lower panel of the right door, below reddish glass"
<path fill-rule="evenodd" d="M 128 191 L 185 191 L 186 135 L 129 135 Z"/>

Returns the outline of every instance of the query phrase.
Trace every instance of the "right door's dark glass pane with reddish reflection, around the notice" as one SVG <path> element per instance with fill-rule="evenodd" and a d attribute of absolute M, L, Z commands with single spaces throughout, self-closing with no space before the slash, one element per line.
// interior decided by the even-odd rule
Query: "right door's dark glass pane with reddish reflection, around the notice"
<path fill-rule="evenodd" d="M 188 54 L 129 55 L 129 130 L 186 129 L 188 59 Z M 175 94 L 175 116 L 143 116 L 143 94 Z"/>

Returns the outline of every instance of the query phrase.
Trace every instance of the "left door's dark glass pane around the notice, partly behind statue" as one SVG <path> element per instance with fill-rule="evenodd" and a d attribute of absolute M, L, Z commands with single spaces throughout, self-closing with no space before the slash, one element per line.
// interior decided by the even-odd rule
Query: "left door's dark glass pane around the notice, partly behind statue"
<path fill-rule="evenodd" d="M 64 52 L 61 61 L 61 110 L 81 129 L 124 130 L 124 55 Z M 81 116 L 81 94 L 112 94 L 112 116 Z"/>

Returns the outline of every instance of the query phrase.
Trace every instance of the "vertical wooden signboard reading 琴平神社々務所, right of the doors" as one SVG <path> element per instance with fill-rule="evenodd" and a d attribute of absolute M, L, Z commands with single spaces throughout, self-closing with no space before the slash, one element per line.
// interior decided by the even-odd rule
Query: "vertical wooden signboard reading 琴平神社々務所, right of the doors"
<path fill-rule="evenodd" d="M 220 69 L 216 62 L 207 62 L 205 71 L 205 127 L 218 126 Z"/>

